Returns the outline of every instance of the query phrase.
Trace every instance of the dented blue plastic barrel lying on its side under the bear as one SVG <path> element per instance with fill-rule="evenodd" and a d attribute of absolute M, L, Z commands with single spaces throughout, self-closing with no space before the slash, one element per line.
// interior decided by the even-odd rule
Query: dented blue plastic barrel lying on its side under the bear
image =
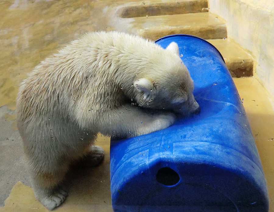
<path fill-rule="evenodd" d="M 201 113 L 151 134 L 111 140 L 114 211 L 268 211 L 261 161 L 223 57 L 194 36 L 156 43 L 166 48 L 173 41 L 194 80 Z"/>

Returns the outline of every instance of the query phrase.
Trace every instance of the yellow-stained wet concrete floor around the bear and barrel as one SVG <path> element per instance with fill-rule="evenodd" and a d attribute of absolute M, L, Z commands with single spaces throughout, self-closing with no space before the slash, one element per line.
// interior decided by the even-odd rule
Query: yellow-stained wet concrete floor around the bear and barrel
<path fill-rule="evenodd" d="M 124 1 L 0 2 L 0 211 L 47 211 L 33 196 L 25 172 L 22 144 L 16 129 L 15 103 L 19 83 L 35 65 L 86 31 L 120 30 L 131 21 L 118 17 Z M 274 100 L 253 78 L 234 78 L 267 179 L 270 212 L 274 212 Z M 56 211 L 112 211 L 109 179 L 109 138 L 98 137 L 104 162 L 70 173 L 71 191 Z"/>

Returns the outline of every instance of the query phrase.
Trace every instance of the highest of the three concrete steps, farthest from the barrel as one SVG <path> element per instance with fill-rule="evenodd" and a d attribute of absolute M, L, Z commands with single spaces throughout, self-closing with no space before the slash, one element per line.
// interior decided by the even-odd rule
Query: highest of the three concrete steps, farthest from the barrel
<path fill-rule="evenodd" d="M 162 16 L 195 12 L 208 12 L 207 0 L 144 0 L 127 2 L 119 9 L 118 14 L 123 18 L 142 16 Z"/>

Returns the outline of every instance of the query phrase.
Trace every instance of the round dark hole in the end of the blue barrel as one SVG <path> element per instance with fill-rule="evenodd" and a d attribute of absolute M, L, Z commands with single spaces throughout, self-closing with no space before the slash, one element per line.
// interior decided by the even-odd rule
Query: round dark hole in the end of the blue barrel
<path fill-rule="evenodd" d="M 156 180 L 165 186 L 173 186 L 179 182 L 180 176 L 173 169 L 163 167 L 157 172 Z"/>

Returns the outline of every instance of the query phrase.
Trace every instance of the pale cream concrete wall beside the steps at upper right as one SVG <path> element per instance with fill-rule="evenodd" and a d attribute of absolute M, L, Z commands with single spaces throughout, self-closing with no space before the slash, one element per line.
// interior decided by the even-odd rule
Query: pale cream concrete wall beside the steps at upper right
<path fill-rule="evenodd" d="M 228 37 L 254 57 L 254 75 L 274 96 L 273 0 L 209 0 L 210 12 L 227 21 Z"/>

